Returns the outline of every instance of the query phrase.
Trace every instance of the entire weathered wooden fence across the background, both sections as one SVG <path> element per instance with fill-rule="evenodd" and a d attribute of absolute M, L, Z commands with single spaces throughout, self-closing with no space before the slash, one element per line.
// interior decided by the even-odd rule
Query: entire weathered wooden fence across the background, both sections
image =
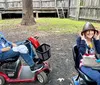
<path fill-rule="evenodd" d="M 42 12 L 44 9 L 44 11 L 49 10 L 48 12 L 51 12 L 54 10 L 56 12 L 56 8 L 62 6 L 68 10 L 70 17 L 77 20 L 100 21 L 100 0 L 33 0 L 33 8 L 41 9 Z M 0 10 L 22 10 L 22 0 L 0 0 Z"/>

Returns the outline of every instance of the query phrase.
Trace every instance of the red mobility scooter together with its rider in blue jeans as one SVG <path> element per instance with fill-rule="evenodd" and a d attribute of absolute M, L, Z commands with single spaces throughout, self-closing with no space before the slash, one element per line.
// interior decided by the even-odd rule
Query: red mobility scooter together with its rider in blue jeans
<path fill-rule="evenodd" d="M 35 58 L 36 54 L 38 58 Z M 21 63 L 19 56 L 28 66 Z M 34 37 L 15 44 L 7 41 L 0 33 L 0 85 L 4 85 L 5 82 L 33 82 L 36 80 L 41 84 L 47 83 L 51 69 L 46 60 L 50 57 L 50 45 L 40 45 Z"/>

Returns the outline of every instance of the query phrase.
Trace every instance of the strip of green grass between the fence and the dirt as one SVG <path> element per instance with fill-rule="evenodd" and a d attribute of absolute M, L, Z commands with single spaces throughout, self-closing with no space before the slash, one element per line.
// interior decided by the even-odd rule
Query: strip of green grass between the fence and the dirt
<path fill-rule="evenodd" d="M 21 19 L 0 20 L 0 28 L 14 28 L 20 22 Z M 38 18 L 36 19 L 36 22 L 38 30 L 56 33 L 77 33 L 82 30 L 83 25 L 86 23 L 86 21 L 59 18 Z M 93 23 L 93 25 L 97 29 L 100 29 L 99 23 Z"/>

